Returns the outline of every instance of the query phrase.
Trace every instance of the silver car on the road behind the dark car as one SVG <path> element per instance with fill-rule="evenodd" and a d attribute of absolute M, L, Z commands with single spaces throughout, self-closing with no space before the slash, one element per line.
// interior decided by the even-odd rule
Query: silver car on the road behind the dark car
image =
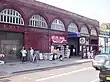
<path fill-rule="evenodd" d="M 99 70 L 100 67 L 103 65 L 104 61 L 109 59 L 108 55 L 96 55 L 92 61 L 92 66 Z"/>

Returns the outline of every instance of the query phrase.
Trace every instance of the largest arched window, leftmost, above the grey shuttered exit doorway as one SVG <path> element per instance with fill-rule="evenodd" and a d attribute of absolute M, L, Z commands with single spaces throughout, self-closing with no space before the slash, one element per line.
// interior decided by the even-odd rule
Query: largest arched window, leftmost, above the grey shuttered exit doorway
<path fill-rule="evenodd" d="M 0 22 L 24 25 L 24 20 L 19 12 L 13 9 L 4 9 L 0 12 Z"/>

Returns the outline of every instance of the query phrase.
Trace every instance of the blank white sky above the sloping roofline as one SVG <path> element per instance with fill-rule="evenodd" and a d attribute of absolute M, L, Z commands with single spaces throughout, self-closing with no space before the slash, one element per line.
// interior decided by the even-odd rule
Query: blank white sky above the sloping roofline
<path fill-rule="evenodd" d="M 74 13 L 110 23 L 110 0 L 37 0 Z"/>

